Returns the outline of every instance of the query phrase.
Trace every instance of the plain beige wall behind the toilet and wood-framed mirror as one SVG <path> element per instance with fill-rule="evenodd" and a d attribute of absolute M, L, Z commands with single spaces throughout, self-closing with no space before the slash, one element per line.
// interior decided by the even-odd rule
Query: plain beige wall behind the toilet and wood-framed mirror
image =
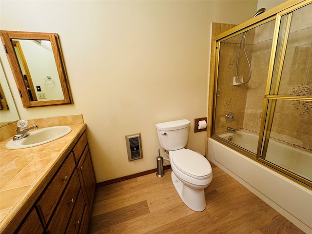
<path fill-rule="evenodd" d="M 158 122 L 191 120 L 187 147 L 204 155 L 206 134 L 194 133 L 194 118 L 207 116 L 210 24 L 243 22 L 256 4 L 1 0 L 1 30 L 59 34 L 74 98 L 24 109 L 1 46 L 20 117 L 83 114 L 98 182 L 156 168 Z M 128 162 L 124 136 L 138 132 L 144 157 Z"/>

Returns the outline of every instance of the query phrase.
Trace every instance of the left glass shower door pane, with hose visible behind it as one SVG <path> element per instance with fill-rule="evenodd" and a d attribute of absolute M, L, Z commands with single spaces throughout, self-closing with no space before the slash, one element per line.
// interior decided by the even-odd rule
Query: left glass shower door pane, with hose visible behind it
<path fill-rule="evenodd" d="M 219 43 L 213 134 L 256 157 L 275 20 Z"/>

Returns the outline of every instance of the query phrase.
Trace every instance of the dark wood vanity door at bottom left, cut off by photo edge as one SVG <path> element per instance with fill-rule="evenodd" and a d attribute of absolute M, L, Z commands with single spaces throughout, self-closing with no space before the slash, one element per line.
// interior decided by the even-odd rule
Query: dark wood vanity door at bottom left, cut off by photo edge
<path fill-rule="evenodd" d="M 42 234 L 43 227 L 37 215 L 36 209 L 33 208 L 31 213 L 27 216 L 23 224 L 21 225 L 17 234 Z"/>

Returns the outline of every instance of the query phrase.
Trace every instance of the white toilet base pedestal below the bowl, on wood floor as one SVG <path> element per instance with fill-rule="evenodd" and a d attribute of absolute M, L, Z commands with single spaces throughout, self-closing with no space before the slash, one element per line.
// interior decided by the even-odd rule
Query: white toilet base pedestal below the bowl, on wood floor
<path fill-rule="evenodd" d="M 185 205 L 187 205 L 193 211 L 200 212 L 205 210 L 206 199 L 204 189 L 197 190 L 190 188 L 189 186 L 182 183 L 173 171 L 171 172 L 171 180 L 176 188 L 176 192 Z"/>

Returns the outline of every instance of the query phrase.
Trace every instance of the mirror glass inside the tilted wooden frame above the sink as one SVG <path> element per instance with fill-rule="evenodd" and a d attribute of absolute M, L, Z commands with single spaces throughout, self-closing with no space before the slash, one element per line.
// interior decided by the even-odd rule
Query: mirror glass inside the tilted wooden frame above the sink
<path fill-rule="evenodd" d="M 31 101 L 64 99 L 49 40 L 12 40 Z"/>

